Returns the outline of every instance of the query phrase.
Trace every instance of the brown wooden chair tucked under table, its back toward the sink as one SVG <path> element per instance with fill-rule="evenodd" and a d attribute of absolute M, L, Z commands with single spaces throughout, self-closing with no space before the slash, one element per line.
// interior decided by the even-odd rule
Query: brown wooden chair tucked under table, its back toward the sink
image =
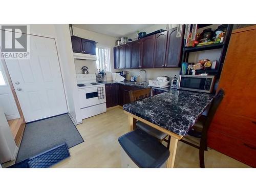
<path fill-rule="evenodd" d="M 137 101 L 139 99 L 143 99 L 146 98 L 148 96 L 151 95 L 151 88 L 146 88 L 146 89 L 142 89 L 142 90 L 136 90 L 136 91 L 130 91 L 129 92 L 130 95 L 130 101 L 134 102 Z M 170 138 L 167 140 L 165 139 L 167 137 L 167 134 L 160 132 L 158 130 L 156 130 L 155 128 L 151 127 L 150 125 L 147 125 L 141 121 L 138 121 L 136 123 L 136 127 L 144 132 L 146 132 L 149 135 L 152 135 L 154 137 L 156 137 L 157 139 L 159 139 L 159 141 L 162 143 L 162 141 L 166 141 L 168 143 L 168 147 L 169 147 L 169 140 Z"/>

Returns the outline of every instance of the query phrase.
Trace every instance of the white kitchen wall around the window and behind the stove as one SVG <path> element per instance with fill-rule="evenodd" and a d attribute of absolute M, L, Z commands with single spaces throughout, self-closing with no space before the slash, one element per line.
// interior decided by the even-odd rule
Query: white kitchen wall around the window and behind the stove
<path fill-rule="evenodd" d="M 97 45 L 102 45 L 110 48 L 110 62 L 111 62 L 111 72 L 114 72 L 114 53 L 113 53 L 113 48 L 116 45 L 116 40 L 117 38 L 111 37 L 108 35 L 103 35 L 100 33 L 95 33 L 93 31 L 88 31 L 84 29 L 80 29 L 77 27 L 73 27 L 73 32 L 75 36 L 90 39 L 90 40 L 95 40 L 98 42 Z M 89 60 L 78 60 L 75 59 L 75 69 L 76 73 L 81 73 L 81 67 L 82 66 L 87 66 L 89 68 L 89 73 L 96 73 L 97 68 L 96 68 L 96 61 L 89 61 Z M 111 74 L 107 73 L 107 78 L 110 80 L 111 79 Z"/>

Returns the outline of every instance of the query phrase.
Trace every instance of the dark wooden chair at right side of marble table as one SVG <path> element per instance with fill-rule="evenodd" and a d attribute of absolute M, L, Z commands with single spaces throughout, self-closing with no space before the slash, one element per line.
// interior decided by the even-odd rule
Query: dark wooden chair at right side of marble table
<path fill-rule="evenodd" d="M 197 130 L 198 133 L 201 135 L 200 144 L 199 146 L 191 143 L 187 140 L 181 139 L 180 141 L 189 144 L 190 146 L 196 147 L 199 149 L 199 160 L 200 160 L 200 167 L 204 168 L 204 151 L 207 151 L 207 133 L 209 130 L 210 123 L 212 119 L 214 118 L 214 115 L 224 98 L 224 91 L 220 90 L 214 100 L 211 103 L 210 109 L 208 111 L 208 115 L 204 116 L 202 115 L 199 120 L 195 123 L 195 125 L 192 127 L 192 129 Z M 200 130 L 200 131 L 198 131 Z M 199 135 L 199 134 L 198 134 Z M 186 137 L 185 137 L 186 138 Z"/>

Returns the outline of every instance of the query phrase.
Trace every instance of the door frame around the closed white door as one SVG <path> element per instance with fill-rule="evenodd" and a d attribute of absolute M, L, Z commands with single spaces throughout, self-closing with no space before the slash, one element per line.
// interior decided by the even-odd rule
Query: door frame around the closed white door
<path fill-rule="evenodd" d="M 1 29 L 2 30 L 2 29 Z M 8 30 L 7 30 L 8 31 Z M 17 32 L 19 33 L 19 32 Z M 45 36 L 45 35 L 39 35 L 39 34 L 31 34 L 31 33 L 22 33 L 22 34 L 26 34 L 26 35 L 33 35 L 33 36 L 38 36 L 38 37 L 44 37 L 44 38 L 50 38 L 50 39 L 53 39 L 54 40 L 54 44 L 55 44 L 55 47 L 56 47 L 56 52 L 57 52 L 57 57 L 58 57 L 58 64 L 59 64 L 59 70 L 60 70 L 60 75 L 61 75 L 61 80 L 62 80 L 62 86 L 63 86 L 63 90 L 64 90 L 64 96 L 65 96 L 65 100 L 66 100 L 66 105 L 67 105 L 67 110 L 68 110 L 68 113 L 70 111 L 69 109 L 69 105 L 68 105 L 68 102 L 67 102 L 67 94 L 66 94 L 66 87 L 65 87 L 65 84 L 63 83 L 63 76 L 62 76 L 62 70 L 61 70 L 61 65 L 60 65 L 60 58 L 59 58 L 59 52 L 58 52 L 58 46 L 57 46 L 57 38 L 54 37 L 54 36 Z M 2 48 L 0 47 L 0 54 L 2 54 Z M 11 80 L 11 76 L 10 76 L 10 73 L 8 71 L 8 68 L 7 68 L 7 65 L 6 65 L 6 62 L 5 62 L 5 59 L 4 58 L 0 58 L 3 62 L 3 70 L 5 71 L 6 73 L 6 77 L 7 77 L 7 80 L 10 84 L 10 88 L 11 88 L 11 91 L 12 91 L 12 94 L 13 94 L 13 97 L 14 97 L 14 100 L 15 100 L 15 103 L 17 105 L 17 109 L 18 109 L 18 112 L 19 112 L 19 115 L 20 115 L 20 118 L 23 118 L 23 122 L 25 122 L 25 118 L 24 118 L 24 115 L 23 115 L 23 112 L 22 112 L 22 108 L 20 107 L 20 104 L 19 104 L 19 101 L 18 101 L 18 97 L 16 95 L 16 92 L 15 92 L 15 89 L 13 87 L 13 83 L 12 83 L 12 80 Z M 50 117 L 48 117 L 50 118 Z M 40 119 L 38 119 L 37 121 L 39 121 Z"/>

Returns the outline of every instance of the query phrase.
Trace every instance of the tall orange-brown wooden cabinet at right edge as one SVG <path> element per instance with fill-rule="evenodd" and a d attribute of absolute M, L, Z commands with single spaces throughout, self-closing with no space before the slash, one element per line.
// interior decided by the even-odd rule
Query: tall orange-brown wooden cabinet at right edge
<path fill-rule="evenodd" d="M 256 25 L 233 30 L 219 87 L 225 97 L 210 125 L 208 146 L 256 167 Z"/>

